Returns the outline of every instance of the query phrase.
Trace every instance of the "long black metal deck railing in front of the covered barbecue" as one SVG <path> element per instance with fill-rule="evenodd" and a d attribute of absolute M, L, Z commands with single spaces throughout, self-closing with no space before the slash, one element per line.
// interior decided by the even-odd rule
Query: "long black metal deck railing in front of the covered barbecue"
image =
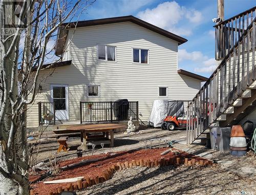
<path fill-rule="evenodd" d="M 80 123 L 138 120 L 138 102 L 80 102 Z"/>

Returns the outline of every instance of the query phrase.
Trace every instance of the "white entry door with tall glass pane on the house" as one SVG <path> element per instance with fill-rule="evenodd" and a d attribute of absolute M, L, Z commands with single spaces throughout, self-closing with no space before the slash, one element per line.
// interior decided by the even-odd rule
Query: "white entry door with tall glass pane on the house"
<path fill-rule="evenodd" d="M 55 107 L 56 120 L 69 119 L 68 85 L 51 85 L 51 97 Z"/>

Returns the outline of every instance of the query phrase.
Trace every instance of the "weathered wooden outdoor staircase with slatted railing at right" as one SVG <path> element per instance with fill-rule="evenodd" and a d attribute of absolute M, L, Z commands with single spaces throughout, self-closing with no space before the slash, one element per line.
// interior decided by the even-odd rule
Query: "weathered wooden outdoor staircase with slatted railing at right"
<path fill-rule="evenodd" d="M 187 107 L 187 143 L 218 122 L 231 126 L 256 108 L 256 7 L 215 26 L 220 62 Z"/>

